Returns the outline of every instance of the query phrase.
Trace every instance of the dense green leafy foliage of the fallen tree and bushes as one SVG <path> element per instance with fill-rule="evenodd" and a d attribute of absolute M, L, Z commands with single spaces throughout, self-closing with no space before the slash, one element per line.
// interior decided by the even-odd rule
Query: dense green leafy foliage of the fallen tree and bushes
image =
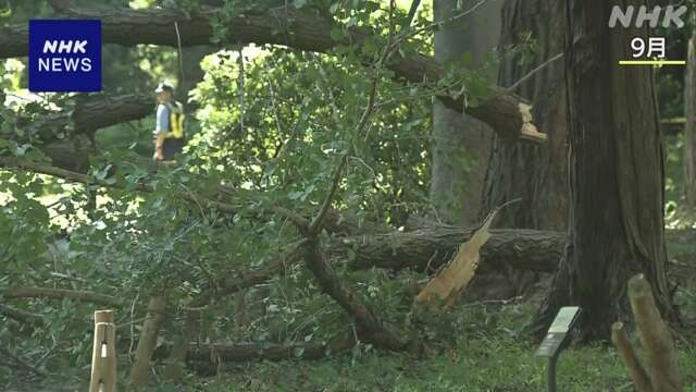
<path fill-rule="evenodd" d="M 124 1 L 102 2 L 125 5 Z M 175 7 L 195 13 L 206 3 L 140 0 L 130 5 Z M 227 19 L 269 5 L 221 3 L 224 12 L 213 23 L 217 35 L 225 34 Z M 437 85 L 393 79 L 380 60 L 387 42 L 401 40 L 402 52 L 433 51 L 432 33 L 438 26 L 428 22 L 427 4 L 411 24 L 407 9 L 390 10 L 385 2 L 295 0 L 283 4 L 332 17 L 339 26 L 332 30 L 336 40 L 353 26 L 371 26 L 374 37 L 327 54 L 268 46 L 246 48 L 243 59 L 231 47 L 207 56 L 201 62 L 204 77 L 188 97 L 178 97 L 197 110 L 189 114 L 185 155 L 173 166 L 151 162 L 153 117 L 101 130 L 94 137 L 75 135 L 70 126 L 42 134 L 45 128 L 39 132 L 33 125 L 37 119 L 71 111 L 89 97 L 27 94 L 24 60 L 3 62 L 0 156 L 49 164 L 45 140 L 80 139 L 94 151 L 87 173 L 99 184 L 0 169 L 0 237 L 8 238 L 0 241 L 0 290 L 27 285 L 113 296 L 121 302 L 119 335 L 124 346 L 130 345 L 130 354 L 150 296 L 165 293 L 167 297 L 171 318 L 160 343 L 169 346 L 185 309 L 201 293 L 214 291 L 221 280 L 243 279 L 285 257 L 300 233 L 278 208 L 311 218 L 326 199 L 344 155 L 347 166 L 334 210 L 373 231 L 402 230 L 413 218 L 432 216 L 427 188 L 433 96 L 465 81 L 468 103 L 477 105 L 487 94 L 480 77 L 485 69 L 470 69 L 471 59 L 464 56 L 447 64 L 448 76 Z M 8 23 L 51 14 L 42 2 L 10 1 L 10 5 Z M 282 23 L 278 34 L 284 34 Z M 508 49 L 533 56 L 533 47 L 530 42 L 530 47 Z M 104 93 L 150 93 L 159 79 L 176 79 L 177 62 L 184 60 L 176 49 L 108 46 Z M 668 93 L 674 87 L 666 86 Z M 365 125 L 362 119 L 368 111 L 371 119 Z M 234 211 L 185 195 L 206 195 Z M 321 236 L 332 235 L 327 230 Z M 400 318 L 410 316 L 410 285 L 423 274 L 349 272 L 340 264 L 335 268 L 385 318 L 410 321 Z M 0 345 L 21 353 L 51 377 L 83 380 L 90 360 L 96 305 L 27 298 L 13 301 L 12 306 L 36 316 L 40 327 L 0 316 Z M 300 264 L 288 264 L 283 273 L 263 284 L 217 298 L 200 315 L 196 339 L 204 342 L 325 342 L 353 328 L 350 317 L 320 292 Z M 431 329 L 424 329 L 426 338 L 446 334 L 456 343 L 459 338 L 453 335 L 467 333 L 486 340 L 489 327 L 507 336 L 498 320 L 501 316 L 474 310 L 469 316 L 480 321 L 465 324 L 463 315 L 434 320 Z M 512 315 L 518 322 L 521 311 L 513 308 Z M 376 354 L 364 356 L 371 350 L 369 344 L 358 344 L 351 358 L 380 362 L 373 357 Z M 0 389 L 16 371 L 2 364 L 0 359 Z M 539 380 L 530 377 L 527 384 L 538 385 Z M 438 382 L 446 383 L 432 384 Z"/>

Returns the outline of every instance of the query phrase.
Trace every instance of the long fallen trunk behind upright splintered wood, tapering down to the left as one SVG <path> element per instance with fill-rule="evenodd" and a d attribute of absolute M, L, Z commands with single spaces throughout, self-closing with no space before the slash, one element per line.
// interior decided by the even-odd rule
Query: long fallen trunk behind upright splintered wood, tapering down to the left
<path fill-rule="evenodd" d="M 376 267 L 433 272 L 449 261 L 457 247 L 468 241 L 472 232 L 472 229 L 433 226 L 412 232 L 336 237 L 327 244 L 327 254 L 333 262 L 348 262 L 352 270 Z M 566 233 L 562 232 L 505 229 L 492 230 L 490 234 L 492 237 L 481 250 L 478 273 L 499 271 L 505 266 L 550 273 L 556 270 L 559 255 L 566 246 Z M 206 306 L 214 298 L 262 284 L 283 274 L 288 267 L 301 261 L 306 241 L 293 243 L 289 250 L 277 256 L 276 261 L 268 266 L 211 283 L 186 308 Z M 355 258 L 348 261 L 346 255 L 349 253 L 355 253 Z"/>

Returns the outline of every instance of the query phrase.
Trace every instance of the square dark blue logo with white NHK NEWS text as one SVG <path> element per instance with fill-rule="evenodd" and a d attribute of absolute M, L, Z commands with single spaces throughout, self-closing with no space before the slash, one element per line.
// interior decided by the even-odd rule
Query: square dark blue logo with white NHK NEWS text
<path fill-rule="evenodd" d="M 29 21 L 29 90 L 101 90 L 101 22 Z"/>

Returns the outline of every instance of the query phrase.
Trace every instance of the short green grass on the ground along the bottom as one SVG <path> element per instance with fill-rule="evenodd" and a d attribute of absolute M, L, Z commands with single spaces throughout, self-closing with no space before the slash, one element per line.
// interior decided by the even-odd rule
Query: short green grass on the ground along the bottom
<path fill-rule="evenodd" d="M 369 353 L 324 362 L 257 363 L 229 366 L 221 377 L 188 387 L 153 391 L 543 391 L 545 362 L 535 346 L 509 334 L 489 333 L 458 342 L 428 358 Z M 685 391 L 696 391 L 696 350 L 680 347 Z M 689 375 L 689 376 L 688 376 Z M 632 391 L 627 372 L 611 347 L 572 347 L 558 366 L 561 391 Z"/>

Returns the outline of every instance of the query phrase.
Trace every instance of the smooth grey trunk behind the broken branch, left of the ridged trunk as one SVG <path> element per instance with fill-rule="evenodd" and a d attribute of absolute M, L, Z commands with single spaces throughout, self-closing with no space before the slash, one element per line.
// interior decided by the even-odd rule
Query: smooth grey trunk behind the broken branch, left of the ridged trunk
<path fill-rule="evenodd" d="M 447 21 L 465 12 L 458 0 L 433 0 L 435 21 Z M 469 4 L 469 3 L 467 3 Z M 472 68 L 484 63 L 500 33 L 502 1 L 488 1 L 475 13 L 447 23 L 435 32 L 435 60 L 446 62 L 472 54 Z M 495 68 L 489 82 L 494 81 Z M 481 121 L 433 102 L 433 174 L 431 201 L 438 218 L 448 224 L 474 223 L 481 209 L 481 189 L 488 158 L 490 128 Z"/>

